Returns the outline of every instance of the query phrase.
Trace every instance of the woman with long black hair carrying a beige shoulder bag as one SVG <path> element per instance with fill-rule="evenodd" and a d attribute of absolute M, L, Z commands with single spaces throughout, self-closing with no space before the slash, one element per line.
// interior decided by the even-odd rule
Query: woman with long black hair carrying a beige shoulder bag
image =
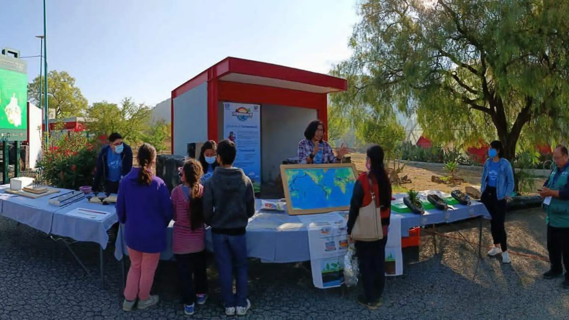
<path fill-rule="evenodd" d="M 348 237 L 352 242 L 352 230 L 362 207 L 368 206 L 372 198 L 381 213 L 381 240 L 363 242 L 356 241 L 356 255 L 360 261 L 361 280 L 364 294 L 357 301 L 370 310 L 381 306 L 381 294 L 385 286 L 385 244 L 387 243 L 387 227 L 391 215 L 391 182 L 384 167 L 384 149 L 372 146 L 368 149 L 366 168 L 368 172 L 360 174 L 352 193 L 348 215 Z M 372 193 L 376 196 L 372 197 Z M 378 226 L 380 227 L 380 226 Z"/>

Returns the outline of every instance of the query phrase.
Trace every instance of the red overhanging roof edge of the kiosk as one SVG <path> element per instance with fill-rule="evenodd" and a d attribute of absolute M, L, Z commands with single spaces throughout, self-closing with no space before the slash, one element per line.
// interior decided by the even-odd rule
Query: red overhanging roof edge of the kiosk
<path fill-rule="evenodd" d="M 209 72 L 210 70 L 215 72 Z M 328 76 L 327 74 L 259 61 L 226 57 L 172 90 L 172 98 L 178 97 L 180 94 L 204 82 L 213 80 L 214 77 L 221 81 L 272 86 L 312 93 L 331 93 L 348 89 L 347 80 Z"/>

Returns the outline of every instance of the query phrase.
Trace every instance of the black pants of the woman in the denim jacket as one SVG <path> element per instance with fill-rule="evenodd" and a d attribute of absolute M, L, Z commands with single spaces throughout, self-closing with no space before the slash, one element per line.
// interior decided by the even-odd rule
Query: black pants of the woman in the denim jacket
<path fill-rule="evenodd" d="M 494 244 L 500 243 L 502 251 L 507 251 L 508 244 L 506 242 L 508 237 L 506 236 L 506 227 L 504 225 L 506 221 L 506 199 L 498 200 L 496 188 L 486 186 L 480 200 L 486 206 L 490 217 L 492 217 L 492 220 L 490 220 L 490 231 L 492 231 Z"/>

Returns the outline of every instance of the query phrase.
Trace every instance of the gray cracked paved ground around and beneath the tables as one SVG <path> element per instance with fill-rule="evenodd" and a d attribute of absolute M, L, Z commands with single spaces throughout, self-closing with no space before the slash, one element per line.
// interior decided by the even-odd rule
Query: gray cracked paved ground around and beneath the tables
<path fill-rule="evenodd" d="M 463 222 L 467 238 L 477 240 L 477 222 Z M 545 222 L 541 211 L 512 213 L 507 218 L 510 249 L 546 257 Z M 560 280 L 542 280 L 548 263 L 513 255 L 512 265 L 499 260 L 477 260 L 475 252 L 446 226 L 439 232 L 439 253 L 432 239 L 422 239 L 418 253 L 406 252 L 405 275 L 387 280 L 385 306 L 368 311 L 358 306 L 355 290 L 345 297 L 339 289 L 319 290 L 310 273 L 294 264 L 251 262 L 250 298 L 245 319 L 568 319 L 569 290 Z M 490 244 L 485 222 L 484 243 Z M 95 244 L 76 244 L 77 254 L 97 273 Z M 121 310 L 120 264 L 106 251 L 106 289 L 85 275 L 62 243 L 13 221 L 0 218 L 0 319 L 2 320 L 102 320 L 185 319 L 176 293 L 175 266 L 160 263 L 154 292 L 160 304 L 132 313 Z M 486 249 L 485 249 L 486 250 Z M 484 251 L 485 251 L 484 250 Z M 409 262 L 409 261 L 408 261 Z M 211 285 L 216 286 L 211 269 Z M 216 292 L 197 309 L 196 319 L 225 319 Z"/>

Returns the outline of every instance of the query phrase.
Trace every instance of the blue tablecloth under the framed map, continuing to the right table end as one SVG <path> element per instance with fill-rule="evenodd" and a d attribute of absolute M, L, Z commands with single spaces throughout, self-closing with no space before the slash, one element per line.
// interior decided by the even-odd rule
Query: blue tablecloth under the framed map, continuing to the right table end
<path fill-rule="evenodd" d="M 403 197 L 396 194 L 394 197 Z M 247 251 L 249 257 L 261 259 L 267 263 L 293 263 L 310 260 L 308 250 L 308 230 L 298 216 L 288 215 L 286 212 L 259 210 L 261 200 L 255 201 L 257 213 L 249 219 L 247 226 Z M 473 202 L 471 206 L 454 205 L 455 210 L 441 211 L 428 210 L 424 215 L 413 213 L 402 214 L 401 236 L 409 236 L 409 229 L 418 226 L 449 223 L 473 217 L 483 216 L 490 218 L 485 206 Z M 160 259 L 171 260 L 172 253 L 172 225 L 167 230 L 167 248 L 161 253 Z M 211 230 L 206 232 L 206 247 L 212 251 Z M 126 244 L 122 236 L 122 227 L 117 236 L 114 256 L 121 260 L 127 255 Z"/>

